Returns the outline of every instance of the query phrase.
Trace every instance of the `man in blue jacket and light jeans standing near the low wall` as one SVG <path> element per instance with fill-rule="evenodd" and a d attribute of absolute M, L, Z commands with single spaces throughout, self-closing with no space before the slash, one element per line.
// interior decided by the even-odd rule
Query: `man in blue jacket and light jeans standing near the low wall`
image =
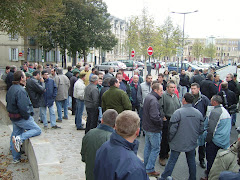
<path fill-rule="evenodd" d="M 53 103 L 57 96 L 57 85 L 55 84 L 54 80 L 48 77 L 48 72 L 46 70 L 42 71 L 42 76 L 45 82 L 46 89 L 44 93 L 45 106 L 40 107 L 41 119 L 43 121 L 44 129 L 48 129 L 47 107 L 49 109 L 51 127 L 52 129 L 58 129 L 60 127 L 56 125 L 56 115 L 53 106 Z"/>

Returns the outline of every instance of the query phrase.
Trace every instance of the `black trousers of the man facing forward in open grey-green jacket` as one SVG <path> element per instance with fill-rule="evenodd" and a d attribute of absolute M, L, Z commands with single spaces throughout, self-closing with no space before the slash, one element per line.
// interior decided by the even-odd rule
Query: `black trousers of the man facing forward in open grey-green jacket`
<path fill-rule="evenodd" d="M 167 121 L 163 121 L 163 129 L 162 129 L 162 141 L 160 145 L 160 159 L 168 158 L 168 153 L 170 151 L 169 144 L 168 144 L 168 126 L 169 126 L 170 118 L 167 118 Z"/>

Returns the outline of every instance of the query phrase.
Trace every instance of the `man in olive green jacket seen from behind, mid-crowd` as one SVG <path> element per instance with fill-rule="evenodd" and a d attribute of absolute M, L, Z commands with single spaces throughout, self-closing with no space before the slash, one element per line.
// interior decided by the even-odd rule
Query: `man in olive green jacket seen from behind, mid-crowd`
<path fill-rule="evenodd" d="M 128 95 L 119 89 L 119 81 L 115 77 L 109 81 L 110 88 L 102 96 L 103 112 L 107 109 L 115 109 L 119 114 L 124 110 L 132 110 L 132 104 Z"/>

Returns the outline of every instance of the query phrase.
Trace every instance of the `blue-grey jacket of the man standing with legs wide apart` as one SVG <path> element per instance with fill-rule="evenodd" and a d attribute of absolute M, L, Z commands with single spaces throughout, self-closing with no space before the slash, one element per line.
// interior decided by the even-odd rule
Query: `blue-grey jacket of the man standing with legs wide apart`
<path fill-rule="evenodd" d="M 203 133 L 204 119 L 202 113 L 185 104 L 176 110 L 169 125 L 169 146 L 177 152 L 189 152 L 197 147 L 197 139 Z"/>

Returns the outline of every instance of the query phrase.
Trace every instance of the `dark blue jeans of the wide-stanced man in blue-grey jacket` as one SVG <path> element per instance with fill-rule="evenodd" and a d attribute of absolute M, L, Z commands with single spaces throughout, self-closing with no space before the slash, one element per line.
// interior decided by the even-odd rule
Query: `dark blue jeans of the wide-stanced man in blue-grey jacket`
<path fill-rule="evenodd" d="M 164 180 L 172 175 L 174 166 L 178 160 L 178 156 L 181 152 L 171 150 L 170 158 L 168 160 L 167 166 L 161 175 L 160 180 Z M 188 168 L 189 168 L 189 180 L 196 180 L 196 162 L 195 162 L 195 149 L 189 152 L 185 152 Z"/>

